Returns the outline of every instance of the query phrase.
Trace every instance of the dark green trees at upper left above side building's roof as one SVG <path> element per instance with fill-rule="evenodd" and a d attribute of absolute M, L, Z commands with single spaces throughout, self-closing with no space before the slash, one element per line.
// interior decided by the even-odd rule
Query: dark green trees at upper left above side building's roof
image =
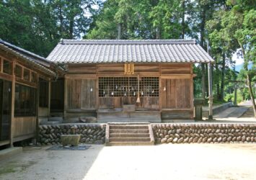
<path fill-rule="evenodd" d="M 6 0 L 0 1 L 0 38 L 47 56 L 61 38 L 80 37 L 95 13 L 95 1 Z"/>

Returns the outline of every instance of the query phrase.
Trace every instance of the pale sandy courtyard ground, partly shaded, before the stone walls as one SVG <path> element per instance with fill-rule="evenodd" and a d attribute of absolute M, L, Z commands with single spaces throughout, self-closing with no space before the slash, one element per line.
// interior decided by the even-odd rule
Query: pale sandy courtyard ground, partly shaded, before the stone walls
<path fill-rule="evenodd" d="M 256 179 L 256 144 L 45 148 L 0 162 L 0 179 Z"/>

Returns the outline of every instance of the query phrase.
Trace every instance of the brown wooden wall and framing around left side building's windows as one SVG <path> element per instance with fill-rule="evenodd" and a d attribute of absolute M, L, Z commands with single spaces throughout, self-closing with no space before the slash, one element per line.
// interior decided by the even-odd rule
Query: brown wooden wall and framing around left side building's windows
<path fill-rule="evenodd" d="M 5 73 L 3 71 L 3 60 L 7 60 L 12 64 L 11 73 Z M 15 68 L 17 67 L 21 68 L 21 73 L 16 73 Z M 29 74 L 28 78 L 24 76 L 24 72 Z M 6 81 L 12 81 L 11 132 L 9 138 L 9 144 L 11 145 L 17 141 L 35 137 L 37 125 L 37 117 L 35 117 L 35 114 L 34 117 L 14 116 L 15 84 L 22 84 L 37 89 L 39 77 L 46 81 L 50 81 L 50 79 L 53 78 L 53 76 L 46 73 L 46 71 L 41 71 L 35 68 L 35 66 L 31 66 L 30 63 L 26 63 L 23 58 L 0 49 L 0 78 Z M 40 109 L 40 113 L 45 114 L 45 110 L 41 110 L 42 109 Z"/>

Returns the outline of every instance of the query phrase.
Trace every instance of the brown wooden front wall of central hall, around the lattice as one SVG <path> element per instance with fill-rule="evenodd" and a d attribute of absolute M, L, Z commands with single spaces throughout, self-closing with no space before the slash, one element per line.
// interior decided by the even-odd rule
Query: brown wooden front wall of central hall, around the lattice
<path fill-rule="evenodd" d="M 159 97 L 98 97 L 98 77 L 159 77 Z M 90 87 L 93 92 L 89 91 Z M 164 87 L 166 91 L 164 91 Z M 96 91 L 94 91 L 96 90 Z M 122 108 L 136 104 L 136 109 L 164 110 L 163 117 L 177 114 L 191 117 L 193 112 L 193 68 L 191 63 L 135 63 L 134 74 L 124 74 L 124 64 L 69 64 L 66 74 L 66 111 L 69 109 Z M 74 112 L 72 112 L 74 114 Z M 81 113 L 81 112 L 79 112 Z M 170 115 L 172 114 L 172 115 Z M 69 114 L 67 114 L 69 116 Z M 174 116 L 175 117 L 175 116 Z"/>

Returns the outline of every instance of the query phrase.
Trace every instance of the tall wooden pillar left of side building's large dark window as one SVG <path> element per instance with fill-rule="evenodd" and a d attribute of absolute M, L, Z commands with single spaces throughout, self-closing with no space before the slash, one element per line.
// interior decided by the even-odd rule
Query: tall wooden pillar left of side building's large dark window
<path fill-rule="evenodd" d="M 13 61 L 12 63 L 12 107 L 11 107 L 11 130 L 10 130 L 10 146 L 13 147 L 14 143 L 14 102 L 15 102 L 15 64 L 16 62 Z"/>

